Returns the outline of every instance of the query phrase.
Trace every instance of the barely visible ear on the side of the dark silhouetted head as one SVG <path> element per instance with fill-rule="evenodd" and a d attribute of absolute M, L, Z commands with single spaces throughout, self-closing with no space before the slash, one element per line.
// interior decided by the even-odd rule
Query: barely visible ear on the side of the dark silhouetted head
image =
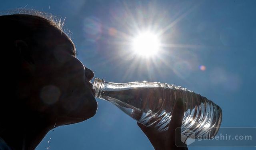
<path fill-rule="evenodd" d="M 16 52 L 20 55 L 22 61 L 25 61 L 28 64 L 34 64 L 34 59 L 32 58 L 31 50 L 25 41 L 14 41 L 14 47 Z"/>

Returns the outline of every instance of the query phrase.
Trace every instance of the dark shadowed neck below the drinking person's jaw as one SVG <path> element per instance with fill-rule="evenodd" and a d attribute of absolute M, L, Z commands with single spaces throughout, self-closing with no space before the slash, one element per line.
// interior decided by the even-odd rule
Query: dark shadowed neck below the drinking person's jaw
<path fill-rule="evenodd" d="M 8 122 L 0 132 L 0 137 L 14 150 L 34 150 L 54 124 L 46 124 L 40 119 Z"/>

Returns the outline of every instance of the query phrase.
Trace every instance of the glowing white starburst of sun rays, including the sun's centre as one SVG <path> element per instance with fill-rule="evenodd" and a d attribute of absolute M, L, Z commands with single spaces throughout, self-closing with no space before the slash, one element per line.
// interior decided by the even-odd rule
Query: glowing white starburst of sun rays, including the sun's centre
<path fill-rule="evenodd" d="M 186 78 L 193 69 L 198 69 L 200 64 L 191 50 L 204 46 L 172 41 L 176 37 L 179 38 L 180 31 L 176 30 L 177 24 L 198 4 L 188 9 L 176 8 L 180 11 L 175 12 L 173 18 L 170 17 L 169 11 L 162 10 L 156 3 L 150 3 L 148 6 L 141 5 L 138 8 L 128 6 L 125 2 L 121 5 L 113 7 L 110 13 L 111 21 L 116 26 L 104 25 L 102 30 L 106 30 L 106 34 L 111 36 L 109 44 L 116 49 L 116 54 L 111 55 L 107 62 L 114 62 L 115 67 L 120 68 L 124 64 L 128 66 L 122 73 L 123 80 L 140 72 L 148 72 L 151 80 L 154 80 L 156 72 L 163 77 L 162 72 L 166 74 L 173 72 L 180 78 Z"/>

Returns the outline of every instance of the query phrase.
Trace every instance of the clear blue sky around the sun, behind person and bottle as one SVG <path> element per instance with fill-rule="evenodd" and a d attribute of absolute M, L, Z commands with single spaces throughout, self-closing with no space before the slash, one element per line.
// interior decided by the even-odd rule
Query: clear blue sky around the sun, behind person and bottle
<path fill-rule="evenodd" d="M 66 17 L 78 58 L 96 77 L 179 85 L 218 104 L 221 126 L 248 127 L 256 126 L 255 6 L 253 0 L 1 0 L 0 10 L 26 7 Z M 159 34 L 163 45 L 148 59 L 132 55 L 130 46 L 143 30 Z M 50 137 L 51 150 L 153 149 L 132 118 L 97 101 L 93 118 L 56 128 L 37 150 L 46 150 Z"/>

